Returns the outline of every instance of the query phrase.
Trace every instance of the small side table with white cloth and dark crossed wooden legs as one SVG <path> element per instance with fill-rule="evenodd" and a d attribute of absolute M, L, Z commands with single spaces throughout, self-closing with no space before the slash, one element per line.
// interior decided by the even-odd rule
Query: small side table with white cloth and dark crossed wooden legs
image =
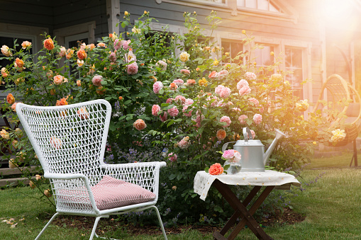
<path fill-rule="evenodd" d="M 258 239 L 270 240 L 272 237 L 268 236 L 265 231 L 263 231 L 260 224 L 257 223 L 252 215 L 255 214 L 258 207 L 260 207 L 262 202 L 265 201 L 274 188 L 281 187 L 282 189 L 287 189 L 291 184 L 296 186 L 301 185 L 294 176 L 287 173 L 279 173 L 277 171 L 256 173 L 240 172 L 234 175 L 221 174 L 218 176 L 212 176 L 205 171 L 199 171 L 194 178 L 194 192 L 201 195 L 200 198 L 202 200 L 205 200 L 206 193 L 208 193 L 211 185 L 214 185 L 223 198 L 231 205 L 233 210 L 235 210 L 221 231 L 213 233 L 214 239 L 235 239 L 240 230 L 247 224 Z M 254 185 L 254 187 L 248 196 L 243 201 L 240 201 L 228 185 Z M 260 192 L 262 186 L 265 186 L 265 189 L 248 210 L 248 204 L 255 198 L 257 193 Z M 226 238 L 228 230 L 233 227 L 238 218 L 241 218 L 240 222 L 238 222 L 231 234 Z"/>

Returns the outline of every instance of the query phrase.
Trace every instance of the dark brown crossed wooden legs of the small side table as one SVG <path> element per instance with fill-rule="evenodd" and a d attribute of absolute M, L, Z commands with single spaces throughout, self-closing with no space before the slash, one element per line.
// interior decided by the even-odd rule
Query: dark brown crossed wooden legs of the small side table
<path fill-rule="evenodd" d="M 228 187 L 227 184 L 222 183 L 221 181 L 218 181 L 216 179 L 213 182 L 213 185 L 217 188 L 218 192 L 221 193 L 223 198 L 233 207 L 235 212 L 233 213 L 232 217 L 228 220 L 226 225 L 221 229 L 220 232 L 214 232 L 213 237 L 215 240 L 221 239 L 235 239 L 235 236 L 238 235 L 240 230 L 245 227 L 245 224 L 251 229 L 251 231 L 257 236 L 258 239 L 267 239 L 267 240 L 273 240 L 270 236 L 268 236 L 265 231 L 263 231 L 262 227 L 260 227 L 260 224 L 256 222 L 256 220 L 252 217 L 252 215 L 255 213 L 258 207 L 262 204 L 262 202 L 267 198 L 267 196 L 272 192 L 274 185 L 267 186 L 265 190 L 261 193 L 260 197 L 255 200 L 255 203 L 250 207 L 250 210 L 247 210 L 247 205 L 250 203 L 250 201 L 255 198 L 255 195 L 260 191 L 260 186 L 255 186 L 248 196 L 243 200 L 243 202 L 240 202 L 238 200 L 237 196 L 232 192 L 231 188 Z M 228 232 L 228 230 L 235 224 L 235 221 L 241 217 L 242 219 L 238 224 L 235 226 L 231 234 L 229 234 L 228 238 L 226 238 L 224 235 Z"/>

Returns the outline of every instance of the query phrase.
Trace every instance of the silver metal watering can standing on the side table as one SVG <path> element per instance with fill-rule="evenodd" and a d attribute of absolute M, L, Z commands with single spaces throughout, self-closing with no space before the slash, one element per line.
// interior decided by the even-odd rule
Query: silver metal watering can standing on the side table
<path fill-rule="evenodd" d="M 238 140 L 233 145 L 233 149 L 240 152 L 241 155 L 240 164 L 242 168 L 240 171 L 265 171 L 265 164 L 268 158 L 270 157 L 274 147 L 276 147 L 278 140 L 284 136 L 285 135 L 283 132 L 276 130 L 276 137 L 274 138 L 270 147 L 268 147 L 267 152 L 265 152 L 265 145 L 263 145 L 260 140 L 252 139 L 252 133 L 250 132 L 250 129 L 248 127 L 243 127 L 243 137 L 245 139 Z M 229 143 L 232 142 L 223 144 L 222 152 L 226 151 Z"/>

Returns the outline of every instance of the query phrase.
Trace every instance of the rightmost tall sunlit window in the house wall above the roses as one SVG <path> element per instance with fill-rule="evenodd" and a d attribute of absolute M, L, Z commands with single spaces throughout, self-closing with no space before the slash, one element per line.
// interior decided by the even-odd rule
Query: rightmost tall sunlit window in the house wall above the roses
<path fill-rule="evenodd" d="M 284 67 L 286 71 L 291 73 L 286 75 L 287 81 L 291 84 L 294 89 L 294 94 L 299 96 L 300 99 L 304 98 L 301 82 L 304 79 L 303 74 L 303 62 L 302 62 L 302 50 L 285 47 L 284 48 Z"/>

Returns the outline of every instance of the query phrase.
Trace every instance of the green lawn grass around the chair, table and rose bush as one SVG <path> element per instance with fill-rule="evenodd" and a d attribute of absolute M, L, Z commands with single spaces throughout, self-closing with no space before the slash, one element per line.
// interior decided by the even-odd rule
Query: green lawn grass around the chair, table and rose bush
<path fill-rule="evenodd" d="M 361 239 L 361 168 L 348 168 L 352 154 L 313 159 L 299 178 L 304 191 L 291 199 L 296 212 L 306 215 L 304 222 L 268 227 L 265 232 L 274 239 Z M 320 177 L 321 176 L 321 177 Z M 315 179 L 318 178 L 318 181 Z M 310 182 L 314 182 L 309 184 Z M 53 210 L 38 200 L 25 197 L 30 188 L 0 190 L 0 239 L 35 239 L 45 226 L 45 217 Z M 3 219 L 14 218 L 18 224 L 10 228 Z M 22 221 L 19 221 L 23 219 Z M 89 239 L 89 230 L 50 225 L 41 239 Z M 84 235 L 84 236 L 83 236 Z M 118 239 L 162 239 L 153 236 L 130 236 L 122 228 L 106 232 Z M 168 234 L 168 239 L 213 239 L 211 234 L 187 230 Z M 236 239 L 257 239 L 244 229 Z"/>

